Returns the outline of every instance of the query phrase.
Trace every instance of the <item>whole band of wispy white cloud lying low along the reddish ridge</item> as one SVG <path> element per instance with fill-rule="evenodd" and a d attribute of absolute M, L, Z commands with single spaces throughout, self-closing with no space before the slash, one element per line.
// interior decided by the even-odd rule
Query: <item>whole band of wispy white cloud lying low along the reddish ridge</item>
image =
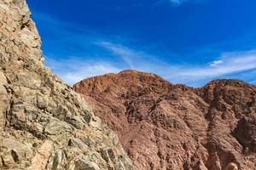
<path fill-rule="evenodd" d="M 119 63 L 113 60 L 96 59 L 47 59 L 48 66 L 53 69 L 65 82 L 72 85 L 86 77 L 117 73 L 126 69 L 154 72 L 166 80 L 174 83 L 186 83 L 192 86 L 201 86 L 203 83 L 215 78 L 229 77 L 243 79 L 240 73 L 247 71 L 248 82 L 253 82 L 256 71 L 256 50 L 246 52 L 224 53 L 212 63 L 201 65 L 166 64 L 158 56 L 143 51 L 127 48 L 111 42 L 97 42 L 108 49 L 113 58 L 121 59 Z M 253 82 L 254 83 L 254 82 Z"/>

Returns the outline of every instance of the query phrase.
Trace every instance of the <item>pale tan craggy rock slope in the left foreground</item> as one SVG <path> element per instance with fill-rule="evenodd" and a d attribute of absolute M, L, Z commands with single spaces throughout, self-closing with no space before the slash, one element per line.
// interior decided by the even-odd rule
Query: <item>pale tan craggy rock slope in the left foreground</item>
<path fill-rule="evenodd" d="M 0 169 L 134 169 L 115 133 L 46 69 L 24 0 L 0 1 Z"/>

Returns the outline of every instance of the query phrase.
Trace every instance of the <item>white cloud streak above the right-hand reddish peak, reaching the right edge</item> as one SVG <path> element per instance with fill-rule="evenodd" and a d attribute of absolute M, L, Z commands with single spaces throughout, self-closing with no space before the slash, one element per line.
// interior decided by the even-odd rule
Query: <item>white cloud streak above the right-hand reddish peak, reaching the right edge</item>
<path fill-rule="evenodd" d="M 183 71 L 179 71 L 173 78 L 177 82 L 186 83 L 237 74 L 236 78 L 242 79 L 238 76 L 239 73 L 256 69 L 256 51 L 225 53 L 220 56 L 220 60 L 212 63 L 213 66 L 183 65 Z M 249 77 L 253 78 L 253 74 Z"/>

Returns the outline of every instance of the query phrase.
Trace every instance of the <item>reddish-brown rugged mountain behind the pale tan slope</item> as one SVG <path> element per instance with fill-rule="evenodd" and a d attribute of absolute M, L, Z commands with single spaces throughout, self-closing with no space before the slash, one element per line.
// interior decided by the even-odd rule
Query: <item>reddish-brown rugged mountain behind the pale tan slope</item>
<path fill-rule="evenodd" d="M 137 169 L 256 169 L 256 87 L 218 80 L 173 85 L 139 71 L 74 85 L 119 134 Z"/>

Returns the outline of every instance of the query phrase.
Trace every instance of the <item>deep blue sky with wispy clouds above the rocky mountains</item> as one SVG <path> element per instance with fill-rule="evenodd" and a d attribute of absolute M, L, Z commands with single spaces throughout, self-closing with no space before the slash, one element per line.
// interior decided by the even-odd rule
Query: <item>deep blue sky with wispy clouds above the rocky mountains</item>
<path fill-rule="evenodd" d="M 27 0 L 46 65 L 72 85 L 126 69 L 256 84 L 255 0 Z"/>

